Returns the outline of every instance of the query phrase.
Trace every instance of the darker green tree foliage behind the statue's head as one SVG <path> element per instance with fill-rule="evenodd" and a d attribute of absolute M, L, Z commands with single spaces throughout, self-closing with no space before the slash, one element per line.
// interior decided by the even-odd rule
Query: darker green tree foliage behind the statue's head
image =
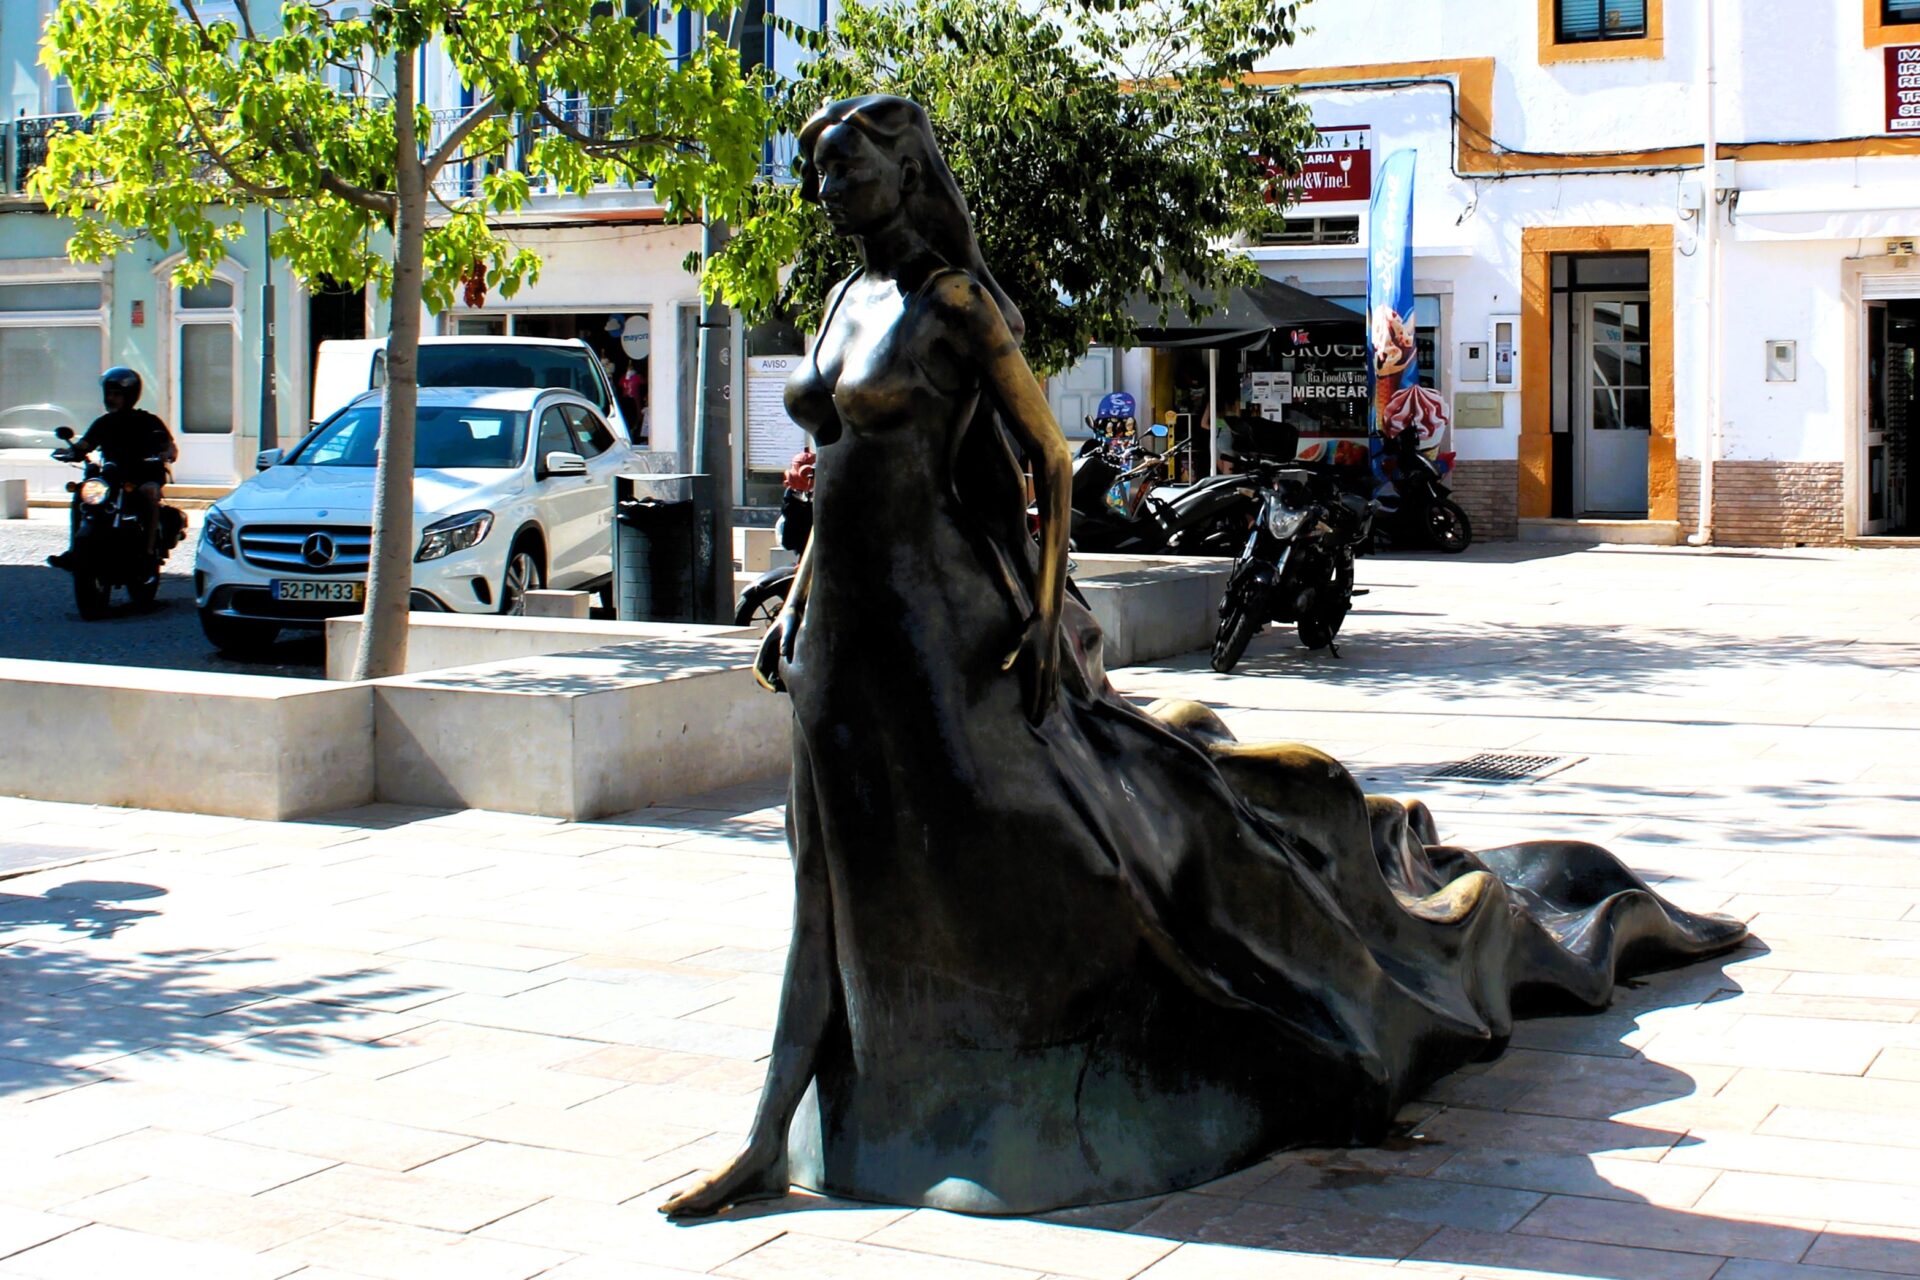
<path fill-rule="evenodd" d="M 1139 297 L 1198 319 L 1223 286 L 1258 274 L 1227 246 L 1277 223 L 1313 125 L 1290 92 L 1246 73 L 1292 44 L 1298 8 L 849 0 L 829 33 L 783 25 L 814 58 L 780 86 L 776 113 L 797 130 L 837 98 L 924 106 L 981 251 L 1027 320 L 1027 361 L 1054 372 L 1091 344 L 1127 345 Z M 749 320 L 814 326 L 852 265 L 791 186 L 762 188 L 707 288 Z"/>

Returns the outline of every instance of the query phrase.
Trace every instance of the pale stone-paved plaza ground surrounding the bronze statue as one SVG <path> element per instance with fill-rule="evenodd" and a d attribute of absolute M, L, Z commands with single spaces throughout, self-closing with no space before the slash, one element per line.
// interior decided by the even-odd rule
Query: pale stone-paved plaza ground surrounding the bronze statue
<path fill-rule="evenodd" d="M 0 800 L 0 865 L 38 864 L 0 883 L 0 1276 L 1920 1274 L 1916 568 L 1363 560 L 1342 660 L 1269 633 L 1229 677 L 1121 672 L 1427 798 L 1450 842 L 1596 839 L 1755 936 L 1523 1023 L 1382 1150 L 1044 1219 L 655 1213 L 753 1113 L 778 789 L 580 825 Z M 1427 777 L 1476 752 L 1572 764 Z"/>

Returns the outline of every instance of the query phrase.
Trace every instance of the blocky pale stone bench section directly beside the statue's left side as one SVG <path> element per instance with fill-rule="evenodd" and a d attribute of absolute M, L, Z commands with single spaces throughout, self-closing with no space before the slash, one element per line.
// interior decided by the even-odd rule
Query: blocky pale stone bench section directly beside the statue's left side
<path fill-rule="evenodd" d="M 382 800 L 586 821 L 776 777 L 787 699 L 756 639 L 680 637 L 372 683 Z"/>

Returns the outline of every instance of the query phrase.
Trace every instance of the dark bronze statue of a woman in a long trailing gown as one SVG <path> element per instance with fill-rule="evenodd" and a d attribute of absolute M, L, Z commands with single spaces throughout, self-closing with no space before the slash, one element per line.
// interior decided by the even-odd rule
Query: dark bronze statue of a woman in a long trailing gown
<path fill-rule="evenodd" d="M 787 384 L 814 533 L 758 664 L 793 699 L 793 940 L 747 1146 L 668 1213 L 789 1182 L 1023 1213 L 1379 1140 L 1515 1000 L 1601 1007 L 1743 936 L 1592 844 L 1446 848 L 1317 750 L 1117 697 L 1066 441 L 925 113 L 835 102 L 801 148 L 862 267 Z"/>

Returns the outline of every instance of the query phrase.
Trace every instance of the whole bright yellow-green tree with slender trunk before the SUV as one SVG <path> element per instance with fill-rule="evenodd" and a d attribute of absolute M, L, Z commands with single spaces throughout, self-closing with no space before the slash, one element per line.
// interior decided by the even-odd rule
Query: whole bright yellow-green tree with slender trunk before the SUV
<path fill-rule="evenodd" d="M 718 2 L 685 6 L 710 15 Z M 538 276 L 536 255 L 493 226 L 534 184 L 645 182 L 668 219 L 737 215 L 766 96 L 724 40 L 676 61 L 605 0 L 376 0 L 353 19 L 332 0 L 292 0 L 271 23 L 234 0 L 223 13 L 61 0 L 42 59 L 94 121 L 52 140 L 33 194 L 75 221 L 73 257 L 102 261 L 144 234 L 184 249 L 180 282 L 205 278 L 242 236 L 240 211 L 267 205 L 271 251 L 301 280 L 372 282 L 392 303 L 355 676 L 397 674 L 422 303 L 444 309 L 482 284 L 511 296 Z M 434 119 L 424 50 L 451 61 L 472 107 Z"/>

